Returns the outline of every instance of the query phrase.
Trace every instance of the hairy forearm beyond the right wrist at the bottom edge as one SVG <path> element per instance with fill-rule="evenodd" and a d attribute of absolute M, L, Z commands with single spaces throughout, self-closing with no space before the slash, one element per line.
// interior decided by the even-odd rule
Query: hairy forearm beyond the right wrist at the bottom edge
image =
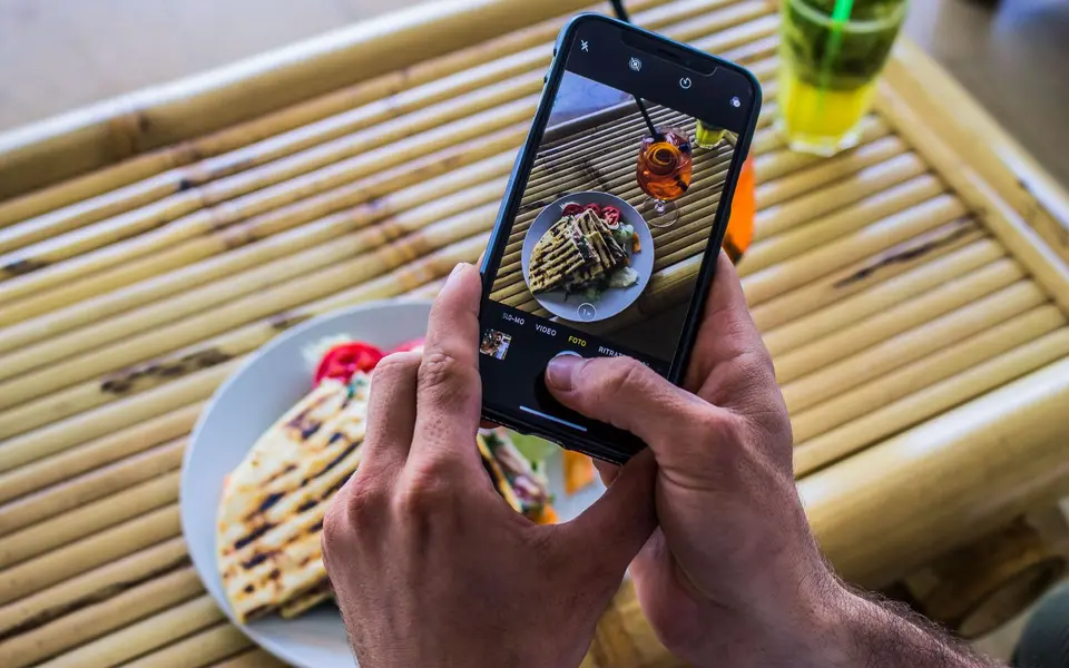
<path fill-rule="evenodd" d="M 996 668 L 1001 664 L 981 658 L 904 607 L 845 592 L 840 605 L 837 642 L 828 647 L 824 666 L 865 668 Z"/>

